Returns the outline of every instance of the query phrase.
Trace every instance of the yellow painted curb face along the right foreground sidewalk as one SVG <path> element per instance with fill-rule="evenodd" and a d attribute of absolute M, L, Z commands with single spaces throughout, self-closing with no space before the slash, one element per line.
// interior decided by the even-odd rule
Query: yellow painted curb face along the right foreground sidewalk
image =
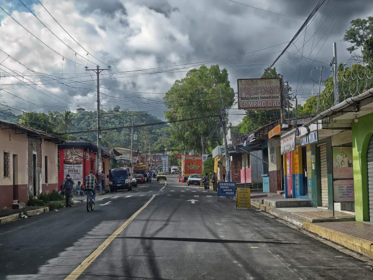
<path fill-rule="evenodd" d="M 370 240 L 339 232 L 327 227 L 322 227 L 310 222 L 303 222 L 303 228 L 373 259 L 373 243 Z"/>

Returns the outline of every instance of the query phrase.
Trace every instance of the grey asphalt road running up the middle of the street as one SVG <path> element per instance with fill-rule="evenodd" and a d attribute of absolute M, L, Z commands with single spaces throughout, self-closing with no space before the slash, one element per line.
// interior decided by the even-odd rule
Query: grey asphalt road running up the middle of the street
<path fill-rule="evenodd" d="M 368 264 L 170 175 L 167 185 L 97 196 L 93 212 L 79 203 L 0 226 L 0 279 L 74 269 L 68 279 L 373 279 Z"/>

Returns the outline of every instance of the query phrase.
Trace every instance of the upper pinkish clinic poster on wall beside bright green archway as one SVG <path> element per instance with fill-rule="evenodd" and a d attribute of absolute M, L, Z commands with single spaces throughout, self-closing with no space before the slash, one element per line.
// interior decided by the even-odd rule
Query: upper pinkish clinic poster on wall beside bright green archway
<path fill-rule="evenodd" d="M 333 147 L 333 179 L 352 178 L 352 147 Z"/>

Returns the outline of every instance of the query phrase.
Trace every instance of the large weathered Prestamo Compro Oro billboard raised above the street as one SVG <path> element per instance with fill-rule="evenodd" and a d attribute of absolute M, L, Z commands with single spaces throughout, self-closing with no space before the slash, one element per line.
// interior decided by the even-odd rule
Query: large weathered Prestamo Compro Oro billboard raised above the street
<path fill-rule="evenodd" d="M 281 108 L 281 79 L 237 79 L 238 109 Z"/>

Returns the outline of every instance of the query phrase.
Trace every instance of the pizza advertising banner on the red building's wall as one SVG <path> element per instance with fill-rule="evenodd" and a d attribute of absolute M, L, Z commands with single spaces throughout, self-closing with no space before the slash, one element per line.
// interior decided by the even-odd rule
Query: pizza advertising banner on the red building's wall
<path fill-rule="evenodd" d="M 64 175 L 78 183 L 83 182 L 83 149 L 65 149 L 64 151 Z"/>

